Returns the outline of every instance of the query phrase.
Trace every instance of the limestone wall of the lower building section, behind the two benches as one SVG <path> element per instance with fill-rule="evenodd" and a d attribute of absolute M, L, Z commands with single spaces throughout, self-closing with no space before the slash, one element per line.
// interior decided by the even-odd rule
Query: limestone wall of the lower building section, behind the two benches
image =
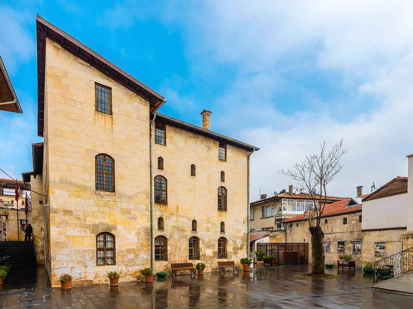
<path fill-rule="evenodd" d="M 168 205 L 154 205 L 154 237 L 168 238 L 168 261 L 155 261 L 155 271 L 170 272 L 170 263 L 203 262 L 206 271 L 218 269 L 218 238 L 228 241 L 228 258 L 237 264 L 247 254 L 247 155 L 246 150 L 227 145 L 227 161 L 218 160 L 218 141 L 166 126 L 166 146 L 154 144 L 154 176 L 168 181 Z M 157 169 L 157 158 L 164 170 Z M 191 176 L 191 164 L 196 176 Z M 221 171 L 225 182 L 221 182 Z M 228 190 L 228 211 L 218 211 L 218 187 Z M 164 218 L 164 230 L 157 220 Z M 192 220 L 197 232 L 192 232 Z M 220 232 L 220 223 L 225 232 Z M 189 238 L 200 240 L 200 259 L 189 260 Z"/>

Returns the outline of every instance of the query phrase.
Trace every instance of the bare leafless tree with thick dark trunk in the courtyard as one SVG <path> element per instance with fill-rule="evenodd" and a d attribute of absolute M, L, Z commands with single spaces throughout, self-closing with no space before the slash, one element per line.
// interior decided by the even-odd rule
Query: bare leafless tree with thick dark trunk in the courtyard
<path fill-rule="evenodd" d="M 325 149 L 325 141 L 320 145 L 318 154 L 306 156 L 301 164 L 294 164 L 294 170 L 278 171 L 282 175 L 297 180 L 303 192 L 309 194 L 314 202 L 312 211 L 306 209 L 304 217 L 309 224 L 311 234 L 312 274 L 324 274 L 324 233 L 320 227 L 321 216 L 327 202 L 327 185 L 342 170 L 341 158 L 348 152 L 343 140 L 335 144 L 330 151 Z M 315 189 L 315 190 L 314 190 Z M 319 194 L 316 194 L 318 190 Z"/>

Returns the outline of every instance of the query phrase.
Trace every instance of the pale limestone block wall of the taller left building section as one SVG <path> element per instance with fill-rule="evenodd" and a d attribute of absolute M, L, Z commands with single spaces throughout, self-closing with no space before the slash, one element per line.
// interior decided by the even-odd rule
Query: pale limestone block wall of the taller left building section
<path fill-rule="evenodd" d="M 112 87 L 113 115 L 95 111 L 95 82 Z M 46 40 L 44 187 L 50 276 L 74 285 L 135 280 L 150 264 L 149 102 Z M 116 192 L 95 190 L 95 156 L 115 161 Z M 96 235 L 116 237 L 116 265 L 96 265 Z M 50 242 L 50 245 L 47 243 Z"/>

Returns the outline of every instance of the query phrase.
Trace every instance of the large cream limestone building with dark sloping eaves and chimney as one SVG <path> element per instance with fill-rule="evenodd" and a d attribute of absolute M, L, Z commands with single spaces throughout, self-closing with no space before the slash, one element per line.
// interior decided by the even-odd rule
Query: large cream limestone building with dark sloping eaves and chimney
<path fill-rule="evenodd" d="M 44 142 L 24 177 L 40 194 L 52 286 L 64 273 L 74 285 L 110 270 L 133 281 L 145 267 L 245 257 L 259 148 L 209 130 L 209 110 L 202 128 L 159 114 L 163 96 L 40 16 L 36 26 Z"/>

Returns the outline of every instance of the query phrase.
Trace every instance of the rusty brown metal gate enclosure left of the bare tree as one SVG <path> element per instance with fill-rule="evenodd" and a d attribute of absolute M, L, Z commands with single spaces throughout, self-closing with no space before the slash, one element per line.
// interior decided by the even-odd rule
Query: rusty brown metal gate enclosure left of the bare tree
<path fill-rule="evenodd" d="M 308 264 L 308 243 L 257 243 L 257 250 L 263 250 L 266 255 L 274 255 L 275 264 Z"/>

